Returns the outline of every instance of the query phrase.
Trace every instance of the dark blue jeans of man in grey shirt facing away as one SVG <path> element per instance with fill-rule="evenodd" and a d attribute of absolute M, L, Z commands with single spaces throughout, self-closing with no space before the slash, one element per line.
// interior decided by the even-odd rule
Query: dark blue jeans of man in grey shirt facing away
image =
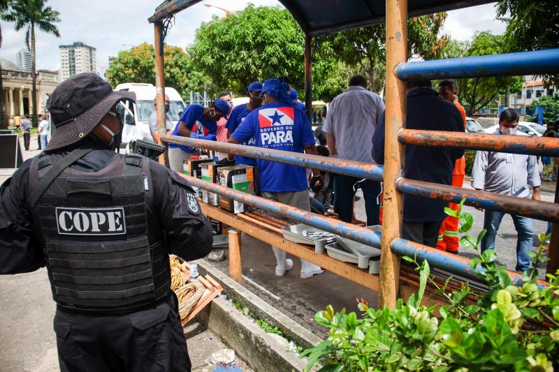
<path fill-rule="evenodd" d="M 372 181 L 371 179 L 361 181 L 356 177 L 336 174 L 334 177 L 334 209 L 340 215 L 340 220 L 351 223 L 354 216 L 354 195 L 357 186 L 360 186 L 363 191 L 367 225 L 378 225 L 380 198 L 382 198 L 379 181 Z"/>

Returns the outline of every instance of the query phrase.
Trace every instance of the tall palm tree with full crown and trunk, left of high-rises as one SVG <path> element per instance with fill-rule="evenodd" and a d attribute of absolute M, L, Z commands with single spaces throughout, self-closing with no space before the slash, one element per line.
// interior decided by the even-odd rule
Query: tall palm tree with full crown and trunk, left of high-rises
<path fill-rule="evenodd" d="M 37 75 L 35 70 L 35 29 L 39 29 L 48 34 L 54 34 L 57 38 L 60 33 L 55 26 L 55 22 L 60 22 L 60 13 L 52 10 L 50 6 L 45 6 L 48 0 L 10 0 L 10 7 L 6 13 L 2 13 L 2 20 L 15 22 L 15 31 L 20 31 L 24 27 L 25 44 L 27 49 L 31 50 L 31 80 L 33 80 L 33 89 L 31 90 L 31 99 L 33 100 L 33 119 L 37 117 Z"/>

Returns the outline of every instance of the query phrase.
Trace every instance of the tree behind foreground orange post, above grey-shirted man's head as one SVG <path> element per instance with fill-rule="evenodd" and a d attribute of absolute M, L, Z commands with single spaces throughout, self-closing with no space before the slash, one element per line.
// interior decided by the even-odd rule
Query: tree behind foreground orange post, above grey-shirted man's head
<path fill-rule="evenodd" d="M 438 34 L 446 18 L 447 13 L 436 13 L 408 20 L 408 57 L 435 59 L 442 56 L 449 38 L 446 35 L 439 37 Z M 320 40 L 335 50 L 345 64 L 364 71 L 372 91 L 381 91 L 384 88 L 385 24 L 341 31 L 337 34 L 321 36 Z"/>

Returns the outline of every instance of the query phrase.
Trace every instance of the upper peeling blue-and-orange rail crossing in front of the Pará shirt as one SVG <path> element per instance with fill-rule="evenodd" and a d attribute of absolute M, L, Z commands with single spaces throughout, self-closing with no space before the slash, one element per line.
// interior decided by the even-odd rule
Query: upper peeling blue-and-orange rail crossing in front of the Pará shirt
<path fill-rule="evenodd" d="M 326 172 L 382 181 L 382 165 L 364 163 L 363 161 L 349 161 L 338 158 L 327 158 L 326 156 L 299 154 L 291 151 L 263 149 L 261 147 L 245 146 L 242 144 L 198 140 L 196 138 L 180 137 L 177 135 L 164 135 L 161 136 L 161 140 L 164 142 L 186 144 L 187 146 L 196 147 L 198 149 L 222 151 L 228 154 L 247 156 L 249 158 L 275 161 L 277 163 L 286 163 L 305 168 L 317 168 Z"/>

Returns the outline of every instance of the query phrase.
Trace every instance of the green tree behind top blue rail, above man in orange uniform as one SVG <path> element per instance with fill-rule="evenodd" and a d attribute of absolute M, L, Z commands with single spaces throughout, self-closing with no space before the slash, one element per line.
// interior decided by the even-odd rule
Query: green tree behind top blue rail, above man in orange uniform
<path fill-rule="evenodd" d="M 471 42 L 451 41 L 444 49 L 445 58 L 485 56 L 504 53 L 503 36 L 493 35 L 490 31 L 475 34 Z M 511 93 L 522 88 L 522 77 L 474 77 L 457 79 L 458 101 L 462 103 L 466 114 L 471 116 L 477 110 L 493 105 L 499 94 L 504 94 L 507 85 Z"/>

